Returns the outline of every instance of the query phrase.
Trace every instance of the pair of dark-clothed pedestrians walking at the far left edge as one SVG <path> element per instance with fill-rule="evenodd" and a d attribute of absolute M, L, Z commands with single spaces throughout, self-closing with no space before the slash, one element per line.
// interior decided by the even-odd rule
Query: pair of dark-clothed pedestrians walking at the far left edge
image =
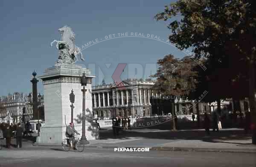
<path fill-rule="evenodd" d="M 22 147 L 23 128 L 21 124 L 1 124 L 3 138 L 6 140 L 6 148 L 11 147 L 11 139 L 16 137 L 16 147 Z"/>

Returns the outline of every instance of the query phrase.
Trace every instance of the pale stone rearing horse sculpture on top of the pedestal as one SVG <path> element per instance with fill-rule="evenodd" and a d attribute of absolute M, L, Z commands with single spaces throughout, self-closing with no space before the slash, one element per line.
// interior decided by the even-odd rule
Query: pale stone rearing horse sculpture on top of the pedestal
<path fill-rule="evenodd" d="M 53 43 L 57 43 L 56 48 L 59 50 L 57 63 L 61 63 L 62 65 L 75 63 L 78 60 L 78 56 L 84 61 L 79 47 L 75 45 L 75 33 L 71 28 L 63 26 L 58 29 L 58 32 L 61 34 L 61 40 L 53 40 L 51 42 L 51 46 Z"/>

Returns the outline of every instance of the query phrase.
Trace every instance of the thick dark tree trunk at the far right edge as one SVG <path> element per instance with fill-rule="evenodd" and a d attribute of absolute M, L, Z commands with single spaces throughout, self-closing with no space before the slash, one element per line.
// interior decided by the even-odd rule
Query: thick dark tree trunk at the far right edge
<path fill-rule="evenodd" d="M 249 63 L 249 105 L 251 112 L 252 144 L 256 144 L 256 102 L 255 102 L 255 65 L 253 59 Z"/>

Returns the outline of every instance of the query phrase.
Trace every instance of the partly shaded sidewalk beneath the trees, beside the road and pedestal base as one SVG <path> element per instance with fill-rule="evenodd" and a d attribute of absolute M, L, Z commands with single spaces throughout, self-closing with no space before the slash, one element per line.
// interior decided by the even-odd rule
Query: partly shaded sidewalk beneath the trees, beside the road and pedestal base
<path fill-rule="evenodd" d="M 256 145 L 251 144 L 250 135 L 240 129 L 226 129 L 211 132 L 206 136 L 204 130 L 131 130 L 121 132 L 119 138 L 113 138 L 112 131 L 100 132 L 100 140 L 89 141 L 86 147 L 94 148 L 137 148 L 149 147 L 151 150 L 170 151 L 214 151 L 256 153 Z M 54 144 L 40 144 L 37 147 L 56 147 Z M 58 145 L 60 146 L 60 145 Z"/>

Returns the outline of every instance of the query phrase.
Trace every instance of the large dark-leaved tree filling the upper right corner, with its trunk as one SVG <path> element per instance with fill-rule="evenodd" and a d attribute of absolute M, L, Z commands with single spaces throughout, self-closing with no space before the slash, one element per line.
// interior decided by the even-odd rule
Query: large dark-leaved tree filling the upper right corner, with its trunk
<path fill-rule="evenodd" d="M 241 71 L 247 70 L 249 80 L 247 87 L 254 124 L 253 144 L 256 144 L 255 9 L 255 0 L 177 0 L 155 16 L 157 20 L 174 19 L 168 26 L 172 32 L 169 39 L 180 49 L 193 47 L 193 52 L 199 58 L 204 56 L 215 62 L 227 60 L 243 64 Z M 181 19 L 176 17 L 177 14 L 181 15 Z M 236 69 L 231 75 L 237 76 L 238 72 Z"/>

